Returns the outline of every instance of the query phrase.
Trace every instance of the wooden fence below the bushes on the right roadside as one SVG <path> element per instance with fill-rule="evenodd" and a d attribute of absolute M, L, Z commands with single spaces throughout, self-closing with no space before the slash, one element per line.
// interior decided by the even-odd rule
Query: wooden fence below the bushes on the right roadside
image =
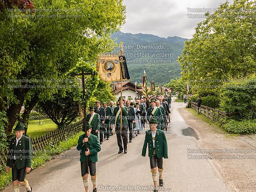
<path fill-rule="evenodd" d="M 197 110 L 197 103 L 196 102 L 191 102 L 191 108 Z M 220 110 L 214 109 L 214 108 L 209 108 L 208 106 L 202 105 L 200 106 L 200 113 L 204 114 L 206 117 L 219 121 L 219 119 L 223 119 L 225 117 L 231 117 L 234 115 L 237 115 L 238 113 L 226 113 L 222 112 Z"/>

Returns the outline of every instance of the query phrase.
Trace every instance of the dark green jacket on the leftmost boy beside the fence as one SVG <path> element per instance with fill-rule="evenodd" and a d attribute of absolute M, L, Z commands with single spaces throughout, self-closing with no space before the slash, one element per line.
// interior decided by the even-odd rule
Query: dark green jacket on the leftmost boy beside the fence
<path fill-rule="evenodd" d="M 17 168 L 31 167 L 33 154 L 32 142 L 30 138 L 22 135 L 16 145 L 16 137 L 11 139 L 6 165 L 12 167 L 14 155 L 16 157 Z"/>

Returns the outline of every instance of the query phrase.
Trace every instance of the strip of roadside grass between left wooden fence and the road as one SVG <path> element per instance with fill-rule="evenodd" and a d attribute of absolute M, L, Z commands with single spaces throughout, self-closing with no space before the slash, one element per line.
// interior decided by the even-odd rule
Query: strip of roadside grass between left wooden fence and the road
<path fill-rule="evenodd" d="M 79 132 L 76 135 L 71 136 L 69 139 L 60 141 L 58 145 L 49 145 L 45 150 L 40 150 L 33 153 L 32 157 L 32 171 L 33 169 L 45 164 L 47 161 L 54 159 L 56 155 L 59 155 L 66 150 L 69 150 L 73 146 L 77 145 L 79 136 L 84 132 Z M 0 191 L 2 191 L 7 185 L 12 183 L 12 174 L 4 172 L 0 175 Z"/>

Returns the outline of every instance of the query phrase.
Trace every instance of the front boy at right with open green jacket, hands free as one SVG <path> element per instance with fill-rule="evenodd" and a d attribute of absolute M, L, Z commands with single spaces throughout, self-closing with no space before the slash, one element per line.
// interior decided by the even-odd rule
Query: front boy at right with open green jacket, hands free
<path fill-rule="evenodd" d="M 159 172 L 159 186 L 162 187 L 163 158 L 168 158 L 167 141 L 164 132 L 156 129 L 157 120 L 154 117 L 150 118 L 149 123 L 150 130 L 146 131 L 141 155 L 145 157 L 146 147 L 148 146 L 148 157 L 150 157 L 150 167 L 155 186 L 154 192 L 157 192 L 157 167 Z"/>

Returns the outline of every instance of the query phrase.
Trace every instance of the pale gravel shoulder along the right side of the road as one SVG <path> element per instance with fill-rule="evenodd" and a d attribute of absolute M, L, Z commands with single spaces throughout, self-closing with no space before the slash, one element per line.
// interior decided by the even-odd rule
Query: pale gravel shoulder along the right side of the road
<path fill-rule="evenodd" d="M 209 125 L 186 108 L 178 111 L 187 125 L 197 132 L 202 152 L 205 152 L 203 155 L 211 157 L 210 161 L 229 190 L 256 191 L 256 147 Z M 199 155 L 196 151 L 189 154 Z"/>

